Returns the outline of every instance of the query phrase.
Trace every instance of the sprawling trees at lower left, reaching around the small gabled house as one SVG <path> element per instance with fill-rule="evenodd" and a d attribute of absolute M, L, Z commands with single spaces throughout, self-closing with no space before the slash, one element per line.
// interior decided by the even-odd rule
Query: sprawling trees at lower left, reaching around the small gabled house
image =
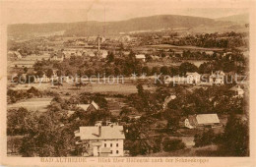
<path fill-rule="evenodd" d="M 78 99 L 78 103 L 94 100 L 100 108 L 96 112 L 86 112 L 77 107 L 74 99 Z M 74 132 L 81 126 L 94 126 L 96 121 L 111 119 L 107 108 L 107 102 L 100 94 L 81 93 L 70 99 L 56 94 L 46 112 L 26 108 L 8 110 L 7 134 L 23 137 L 18 149 L 23 156 L 68 156 L 79 152 L 76 151 Z M 74 114 L 68 115 L 69 110 Z"/>

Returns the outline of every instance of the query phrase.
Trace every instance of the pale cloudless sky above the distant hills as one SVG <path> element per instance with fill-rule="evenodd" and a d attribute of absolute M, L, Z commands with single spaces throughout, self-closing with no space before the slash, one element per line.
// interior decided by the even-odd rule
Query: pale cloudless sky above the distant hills
<path fill-rule="evenodd" d="M 5 4 L 3 15 L 6 16 L 4 18 L 7 24 L 40 24 L 109 22 L 154 15 L 183 15 L 216 19 L 244 13 L 248 13 L 248 8 L 230 3 L 220 8 L 218 3 L 203 4 L 186 0 L 87 0 L 9 1 Z"/>

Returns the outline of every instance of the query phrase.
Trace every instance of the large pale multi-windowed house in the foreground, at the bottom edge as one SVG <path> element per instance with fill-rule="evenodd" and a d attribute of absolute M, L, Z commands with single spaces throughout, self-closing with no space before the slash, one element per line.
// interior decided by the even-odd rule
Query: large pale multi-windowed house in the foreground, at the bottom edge
<path fill-rule="evenodd" d="M 124 156 L 123 126 L 101 126 L 97 123 L 92 127 L 80 127 L 75 137 L 79 139 L 76 144 L 84 148 L 82 156 Z"/>

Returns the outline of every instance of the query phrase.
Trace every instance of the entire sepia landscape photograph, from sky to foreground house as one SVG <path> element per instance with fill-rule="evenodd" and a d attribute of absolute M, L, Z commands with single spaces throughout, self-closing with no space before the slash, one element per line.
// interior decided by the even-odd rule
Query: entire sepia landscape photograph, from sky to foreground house
<path fill-rule="evenodd" d="M 250 157 L 248 7 L 15 3 L 1 55 L 8 158 Z"/>

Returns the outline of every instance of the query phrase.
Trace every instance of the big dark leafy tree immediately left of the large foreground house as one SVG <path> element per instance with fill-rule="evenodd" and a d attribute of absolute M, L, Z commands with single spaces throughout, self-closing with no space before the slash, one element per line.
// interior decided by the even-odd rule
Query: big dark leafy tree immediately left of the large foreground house
<path fill-rule="evenodd" d="M 68 156 L 74 141 L 71 127 L 61 126 L 55 114 L 44 113 L 38 119 L 28 117 L 28 134 L 22 140 L 22 156 Z"/>

